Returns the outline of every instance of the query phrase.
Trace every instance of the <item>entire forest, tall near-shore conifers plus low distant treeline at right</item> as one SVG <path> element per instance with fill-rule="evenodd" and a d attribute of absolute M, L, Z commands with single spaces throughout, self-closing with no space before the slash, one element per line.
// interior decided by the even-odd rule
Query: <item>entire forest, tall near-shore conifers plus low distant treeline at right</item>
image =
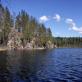
<path fill-rule="evenodd" d="M 82 47 L 82 38 L 80 37 L 53 37 L 51 29 L 44 24 L 39 23 L 33 16 L 30 16 L 25 10 L 21 10 L 18 15 L 11 14 L 7 7 L 0 4 L 0 45 L 7 45 L 11 29 L 16 29 L 20 33 L 20 39 L 23 46 L 35 38 L 35 44 L 40 47 L 46 47 L 50 41 L 54 47 Z M 51 45 L 50 44 L 50 45 Z"/>

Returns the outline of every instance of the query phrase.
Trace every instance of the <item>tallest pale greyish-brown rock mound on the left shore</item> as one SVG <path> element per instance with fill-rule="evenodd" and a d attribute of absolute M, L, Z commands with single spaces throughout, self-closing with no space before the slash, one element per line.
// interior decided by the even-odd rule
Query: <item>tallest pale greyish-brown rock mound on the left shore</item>
<path fill-rule="evenodd" d="M 9 49 L 23 48 L 21 41 L 21 33 L 17 32 L 14 28 L 12 28 L 11 32 L 9 33 L 7 46 Z"/>

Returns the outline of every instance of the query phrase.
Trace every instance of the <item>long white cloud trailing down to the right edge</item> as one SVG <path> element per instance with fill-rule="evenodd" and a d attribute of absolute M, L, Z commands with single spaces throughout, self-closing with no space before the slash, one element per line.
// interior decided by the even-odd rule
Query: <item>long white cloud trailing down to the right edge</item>
<path fill-rule="evenodd" d="M 73 30 L 82 34 L 82 27 L 77 27 L 73 19 L 66 19 L 66 23 L 69 25 L 70 30 Z"/>

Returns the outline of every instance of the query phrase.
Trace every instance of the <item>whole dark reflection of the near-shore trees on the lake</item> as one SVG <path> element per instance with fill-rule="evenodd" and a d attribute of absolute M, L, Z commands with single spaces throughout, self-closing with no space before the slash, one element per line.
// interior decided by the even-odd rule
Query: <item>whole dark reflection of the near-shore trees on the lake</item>
<path fill-rule="evenodd" d="M 7 51 L 2 56 L 3 60 L 0 60 L 4 63 L 1 63 L 0 69 L 6 74 L 3 75 L 6 77 L 5 82 L 28 82 L 32 77 L 36 77 L 37 72 L 44 69 L 42 65 L 47 63 L 46 56 L 45 51 Z"/>

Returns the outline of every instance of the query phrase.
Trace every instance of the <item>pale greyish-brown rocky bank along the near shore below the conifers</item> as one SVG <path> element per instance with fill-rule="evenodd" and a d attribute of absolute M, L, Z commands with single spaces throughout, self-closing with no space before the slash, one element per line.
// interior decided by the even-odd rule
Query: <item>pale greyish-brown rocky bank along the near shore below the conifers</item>
<path fill-rule="evenodd" d="M 9 33 L 8 36 L 8 43 L 7 43 L 7 49 L 11 50 L 11 49 L 48 49 L 48 48 L 54 48 L 54 45 L 52 44 L 52 42 L 49 40 L 45 43 L 45 46 L 39 45 L 39 43 L 37 42 L 37 37 L 33 37 L 33 39 L 28 42 L 28 41 L 22 41 L 21 40 L 21 33 L 18 33 L 16 31 L 16 29 L 11 29 L 11 32 Z"/>

